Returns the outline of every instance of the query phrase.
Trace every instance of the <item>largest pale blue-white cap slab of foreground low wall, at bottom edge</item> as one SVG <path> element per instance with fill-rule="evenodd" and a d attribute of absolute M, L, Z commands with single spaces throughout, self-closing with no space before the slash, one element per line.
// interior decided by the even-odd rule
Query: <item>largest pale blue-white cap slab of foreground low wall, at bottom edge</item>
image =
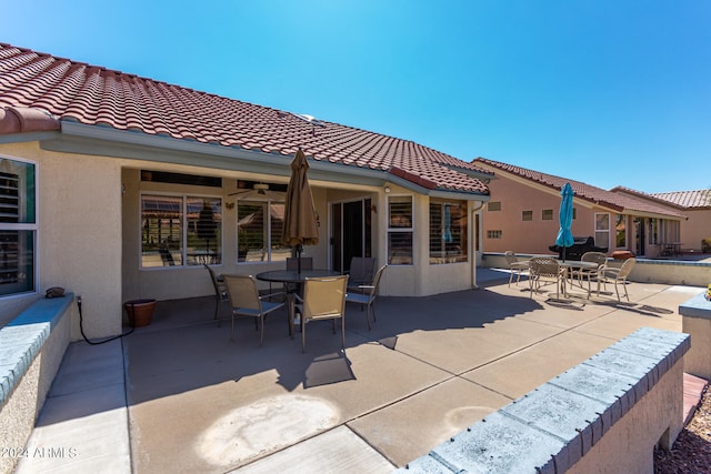
<path fill-rule="evenodd" d="M 553 455 L 563 446 L 560 438 L 494 412 L 484 423 L 435 446 L 430 456 L 452 466 L 452 472 L 554 472 Z"/>

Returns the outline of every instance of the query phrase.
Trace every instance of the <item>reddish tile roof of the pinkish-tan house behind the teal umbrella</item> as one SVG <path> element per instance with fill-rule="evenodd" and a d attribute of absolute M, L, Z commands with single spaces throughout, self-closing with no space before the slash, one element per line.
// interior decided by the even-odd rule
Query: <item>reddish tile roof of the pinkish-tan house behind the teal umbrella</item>
<path fill-rule="evenodd" d="M 560 191 L 563 184 L 570 183 L 577 199 L 588 201 L 603 208 L 608 208 L 618 213 L 645 213 L 684 219 L 684 215 L 671 209 L 670 206 L 655 204 L 643 199 L 635 199 L 622 193 L 605 191 L 601 188 L 595 188 L 580 181 L 569 180 L 567 178 L 555 177 L 553 174 L 545 174 L 541 173 L 540 171 L 533 171 L 513 164 L 501 163 L 499 161 L 488 160 L 485 158 L 477 158 L 472 161 L 472 163 L 487 169 L 493 169 L 499 170 L 500 172 L 514 174 L 517 177 L 523 178 L 525 180 L 557 191 Z"/>

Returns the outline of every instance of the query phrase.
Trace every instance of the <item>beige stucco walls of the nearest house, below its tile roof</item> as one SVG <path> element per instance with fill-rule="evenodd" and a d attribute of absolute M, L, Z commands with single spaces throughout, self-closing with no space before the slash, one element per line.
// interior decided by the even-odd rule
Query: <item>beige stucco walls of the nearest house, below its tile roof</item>
<path fill-rule="evenodd" d="M 116 153 L 116 152 L 112 152 Z M 107 153 L 110 154 L 110 153 Z M 90 339 L 121 333 L 123 302 L 134 299 L 173 300 L 213 294 L 202 266 L 160 266 L 142 269 L 141 193 L 186 193 L 218 196 L 223 204 L 238 180 L 286 184 L 288 169 L 281 175 L 254 171 L 204 168 L 181 164 L 179 160 L 149 161 L 102 154 L 49 151 L 39 142 L 0 143 L 0 155 L 37 163 L 38 182 L 38 259 L 37 293 L 0 299 L 2 320 L 7 324 L 50 286 L 63 286 L 82 296 L 83 329 Z M 197 160 L 196 160 L 197 162 Z M 284 164 L 288 161 L 284 159 Z M 284 167 L 286 168 L 286 167 Z M 222 179 L 222 188 L 179 185 L 141 180 L 141 170 L 170 171 Z M 384 184 L 391 194 L 384 191 Z M 381 294 L 429 295 L 471 289 L 475 285 L 477 255 L 474 212 L 480 201 L 468 203 L 468 260 L 460 263 L 429 262 L 429 195 L 393 182 L 381 185 L 353 184 L 311 179 L 314 205 L 320 215 L 320 242 L 304 248 L 317 268 L 330 268 L 330 205 L 336 202 L 369 198 L 372 202 L 372 256 L 379 265 L 388 254 L 388 195 L 413 198 L 413 263 L 392 264 L 383 275 Z M 223 205 L 222 262 L 216 273 L 257 274 L 283 268 L 283 262 L 238 263 L 237 211 Z M 268 286 L 267 283 L 264 283 Z M 80 340 L 79 317 L 71 322 L 71 339 Z"/>

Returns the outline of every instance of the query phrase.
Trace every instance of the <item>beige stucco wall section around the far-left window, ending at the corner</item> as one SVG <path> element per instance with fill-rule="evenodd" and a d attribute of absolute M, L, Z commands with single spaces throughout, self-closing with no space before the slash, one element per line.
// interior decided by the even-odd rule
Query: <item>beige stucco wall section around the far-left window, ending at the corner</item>
<path fill-rule="evenodd" d="M 121 161 L 44 151 L 37 143 L 0 144 L 0 153 L 37 162 L 38 293 L 63 286 L 83 296 L 90 337 L 121 330 Z M 13 315 L 37 294 L 0 301 Z M 18 304 L 24 301 L 27 304 Z M 77 314 L 71 339 L 81 337 Z"/>

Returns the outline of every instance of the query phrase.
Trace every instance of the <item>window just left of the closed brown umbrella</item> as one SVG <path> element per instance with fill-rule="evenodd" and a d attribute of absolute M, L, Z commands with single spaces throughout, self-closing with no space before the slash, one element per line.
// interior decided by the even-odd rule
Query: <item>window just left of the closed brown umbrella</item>
<path fill-rule="evenodd" d="M 283 202 L 238 201 L 237 261 L 286 261 L 291 248 L 281 243 L 283 223 Z"/>

